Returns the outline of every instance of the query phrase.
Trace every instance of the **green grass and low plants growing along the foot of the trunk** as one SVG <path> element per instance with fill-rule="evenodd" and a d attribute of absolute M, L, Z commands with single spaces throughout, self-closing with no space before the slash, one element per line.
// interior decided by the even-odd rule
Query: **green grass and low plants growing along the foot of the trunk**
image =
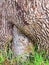
<path fill-rule="evenodd" d="M 0 51 L 0 65 L 3 65 L 4 62 L 4 65 L 6 63 L 7 65 L 49 65 L 47 56 L 46 51 L 38 51 L 38 45 L 35 46 L 34 52 L 32 51 L 29 55 L 23 54 L 16 57 L 13 57 L 13 52 L 9 48 L 6 52 L 4 50 Z M 8 60 L 10 64 L 8 64 Z"/>

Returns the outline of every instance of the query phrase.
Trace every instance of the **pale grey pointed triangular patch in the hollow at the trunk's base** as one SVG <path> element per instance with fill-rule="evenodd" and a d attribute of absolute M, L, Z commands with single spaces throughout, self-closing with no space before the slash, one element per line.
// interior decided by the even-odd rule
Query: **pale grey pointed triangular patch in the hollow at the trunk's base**
<path fill-rule="evenodd" d="M 14 26 L 13 28 L 13 52 L 14 55 L 28 54 L 32 52 L 33 47 L 31 41 L 20 33 L 20 31 Z"/>

